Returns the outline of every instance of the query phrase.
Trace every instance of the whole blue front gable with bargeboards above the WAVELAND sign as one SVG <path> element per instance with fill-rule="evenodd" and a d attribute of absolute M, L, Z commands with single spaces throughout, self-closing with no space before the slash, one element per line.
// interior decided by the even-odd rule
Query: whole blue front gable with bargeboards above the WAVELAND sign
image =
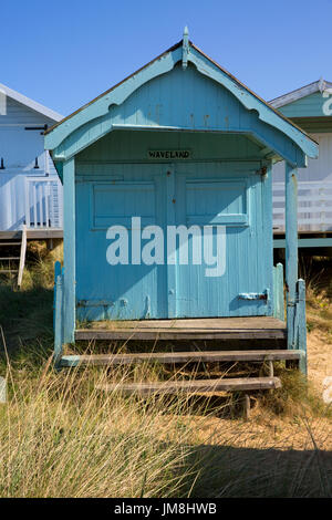
<path fill-rule="evenodd" d="M 126 128 L 190 128 L 194 131 L 206 131 L 209 127 L 215 131 L 231 129 L 250 133 L 261 144 L 270 146 L 293 164 L 304 165 L 305 154 L 310 157 L 318 155 L 317 145 L 305 134 L 280 117 L 268 104 L 218 67 L 198 49 L 190 44 L 187 60 L 191 65 L 187 66 L 185 74 L 180 65 L 175 66 L 181 63 L 181 60 L 183 48 L 178 45 L 73 114 L 63 124 L 55 126 L 45 136 L 45 147 L 53 149 L 53 156 L 58 160 L 64 160 L 120 125 Z M 190 74 L 188 74 L 189 70 Z M 181 74 L 180 82 L 170 82 L 170 79 L 178 74 Z M 209 95 L 194 97 L 191 86 L 196 85 L 198 80 L 193 82 L 193 74 L 200 76 L 201 81 L 210 87 L 215 85 L 216 91 L 220 93 L 220 96 L 224 95 L 226 102 L 224 101 L 220 106 L 215 105 L 211 110 L 208 105 L 210 100 L 216 101 L 215 94 L 211 97 Z M 184 91 L 185 103 L 178 95 L 180 87 Z M 132 95 L 134 92 L 135 95 Z M 154 101 L 155 92 L 159 93 L 162 102 L 160 100 L 158 103 Z M 142 94 L 145 103 L 142 102 Z M 173 101 L 172 111 L 165 105 L 168 103 L 167 97 Z M 193 111 L 190 101 L 194 98 L 195 110 Z M 204 100 L 204 103 L 200 103 L 200 100 Z M 205 106 L 206 103 L 207 106 Z M 118 115 L 123 111 L 122 105 L 126 105 L 125 113 L 133 115 L 134 121 L 128 117 L 126 123 L 121 123 Z M 169 118 L 172 114 L 175 117 Z"/>

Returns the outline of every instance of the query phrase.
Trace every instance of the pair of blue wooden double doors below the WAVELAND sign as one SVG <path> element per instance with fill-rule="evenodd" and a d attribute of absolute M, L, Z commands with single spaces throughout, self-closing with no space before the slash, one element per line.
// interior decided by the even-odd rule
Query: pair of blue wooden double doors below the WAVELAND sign
<path fill-rule="evenodd" d="M 79 176 L 77 318 L 271 314 L 272 235 L 269 212 L 264 211 L 270 179 L 264 186 L 256 169 L 245 164 L 220 163 L 122 164 L 107 166 L 100 177 L 86 171 Z M 164 264 L 133 261 L 132 238 L 133 232 L 137 238 L 137 229 L 132 229 L 132 217 L 141 218 L 142 229 L 149 225 L 162 228 Z M 106 233 L 112 226 L 127 230 L 126 264 L 107 261 L 114 240 Z M 166 257 L 169 226 L 183 226 L 185 231 L 194 227 L 201 237 L 199 241 L 198 235 L 195 238 L 185 235 L 181 247 L 177 240 L 174 262 L 167 262 Z M 217 226 L 225 230 L 219 238 Z M 144 247 L 146 240 L 141 243 Z M 211 258 L 216 257 L 220 269 L 218 275 L 212 275 L 216 266 Z M 270 293 L 268 300 L 239 298 L 263 293 Z"/>

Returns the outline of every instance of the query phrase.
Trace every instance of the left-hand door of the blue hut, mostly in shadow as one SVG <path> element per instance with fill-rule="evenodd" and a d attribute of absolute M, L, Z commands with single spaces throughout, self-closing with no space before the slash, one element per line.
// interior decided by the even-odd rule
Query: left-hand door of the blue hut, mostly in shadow
<path fill-rule="evenodd" d="M 137 228 L 132 229 L 132 217 L 141 217 L 142 228 L 165 226 L 160 166 L 113 165 L 107 177 L 111 180 L 95 181 L 91 176 L 76 185 L 76 207 L 89 208 L 76 218 L 77 316 L 81 320 L 167 318 L 166 267 L 138 263 L 137 258 L 135 263 L 132 248 L 133 232 L 136 237 L 139 233 Z M 111 226 L 127 230 L 126 264 L 110 264 L 110 256 L 107 261 L 108 248 L 118 237 L 107 238 Z"/>

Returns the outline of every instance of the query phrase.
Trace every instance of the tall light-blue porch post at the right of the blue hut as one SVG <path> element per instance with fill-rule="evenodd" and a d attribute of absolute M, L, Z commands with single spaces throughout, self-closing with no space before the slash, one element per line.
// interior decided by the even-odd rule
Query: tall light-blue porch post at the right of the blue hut
<path fill-rule="evenodd" d="M 286 163 L 286 291 L 288 349 L 294 347 L 294 312 L 298 282 L 298 178 L 297 168 Z"/>

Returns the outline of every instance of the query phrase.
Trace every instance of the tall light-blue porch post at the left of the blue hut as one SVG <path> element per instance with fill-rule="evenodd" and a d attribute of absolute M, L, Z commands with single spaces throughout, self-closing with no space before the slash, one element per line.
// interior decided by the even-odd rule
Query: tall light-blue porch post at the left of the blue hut
<path fill-rule="evenodd" d="M 75 334 L 75 159 L 63 164 L 63 343 Z"/>

